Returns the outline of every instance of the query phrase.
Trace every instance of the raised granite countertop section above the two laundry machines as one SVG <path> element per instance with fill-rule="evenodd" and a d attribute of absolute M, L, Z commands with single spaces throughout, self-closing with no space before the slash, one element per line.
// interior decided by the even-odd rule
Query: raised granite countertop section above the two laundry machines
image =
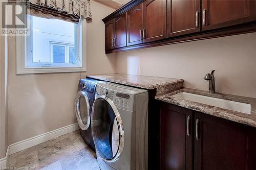
<path fill-rule="evenodd" d="M 180 83 L 183 87 L 182 79 L 161 78 L 140 75 L 126 75 L 126 74 L 102 74 L 102 75 L 88 75 L 88 78 L 98 79 L 118 84 L 124 84 L 133 87 L 144 89 L 157 89 L 160 87 L 167 87 Z"/>

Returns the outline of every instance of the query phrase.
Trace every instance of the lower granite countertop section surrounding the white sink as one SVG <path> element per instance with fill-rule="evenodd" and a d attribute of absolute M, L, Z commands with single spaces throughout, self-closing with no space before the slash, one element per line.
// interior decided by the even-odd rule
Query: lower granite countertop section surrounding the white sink
<path fill-rule="evenodd" d="M 205 95 L 205 96 L 210 96 L 210 97 L 219 98 L 219 99 L 225 99 L 225 100 L 230 100 L 230 101 L 235 101 L 235 102 L 251 104 L 251 113 L 246 114 L 246 113 L 241 113 L 241 112 L 232 111 L 232 110 L 228 110 L 228 109 L 222 109 L 219 107 L 209 106 L 206 104 L 201 104 L 201 103 L 192 102 L 192 101 L 188 101 L 188 100 L 178 99 L 178 98 L 175 98 L 172 96 L 179 92 L 188 92 L 188 93 Z M 243 96 L 222 94 L 222 93 L 211 94 L 208 91 L 183 88 L 183 89 L 180 89 L 180 90 L 168 93 L 168 94 L 156 96 L 155 99 L 162 101 L 162 102 L 181 106 L 181 107 L 184 107 L 187 109 L 191 109 L 191 110 L 199 111 L 202 113 L 210 114 L 213 116 L 221 117 L 224 119 L 228 119 L 233 122 L 238 122 L 241 124 L 256 127 L 256 99 L 253 99 L 253 98 L 246 98 Z"/>

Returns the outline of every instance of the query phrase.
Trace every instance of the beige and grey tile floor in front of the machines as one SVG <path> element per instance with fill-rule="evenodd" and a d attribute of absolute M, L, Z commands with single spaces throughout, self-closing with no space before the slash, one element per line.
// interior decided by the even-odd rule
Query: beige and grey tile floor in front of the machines
<path fill-rule="evenodd" d="M 7 169 L 99 170 L 95 152 L 79 131 L 59 136 L 9 156 Z"/>

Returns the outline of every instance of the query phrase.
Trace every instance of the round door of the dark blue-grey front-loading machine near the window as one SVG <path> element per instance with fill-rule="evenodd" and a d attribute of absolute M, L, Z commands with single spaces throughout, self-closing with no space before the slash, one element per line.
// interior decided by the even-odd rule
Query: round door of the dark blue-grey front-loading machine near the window
<path fill-rule="evenodd" d="M 87 130 L 91 122 L 91 105 L 87 94 L 84 91 L 78 91 L 75 99 L 76 118 L 79 127 Z"/>

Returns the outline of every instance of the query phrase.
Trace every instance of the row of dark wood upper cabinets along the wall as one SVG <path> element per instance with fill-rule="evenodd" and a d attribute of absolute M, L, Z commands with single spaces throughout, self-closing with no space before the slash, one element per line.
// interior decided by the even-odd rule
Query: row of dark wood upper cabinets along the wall
<path fill-rule="evenodd" d="M 256 32 L 256 0 L 132 0 L 102 20 L 105 52 Z"/>

